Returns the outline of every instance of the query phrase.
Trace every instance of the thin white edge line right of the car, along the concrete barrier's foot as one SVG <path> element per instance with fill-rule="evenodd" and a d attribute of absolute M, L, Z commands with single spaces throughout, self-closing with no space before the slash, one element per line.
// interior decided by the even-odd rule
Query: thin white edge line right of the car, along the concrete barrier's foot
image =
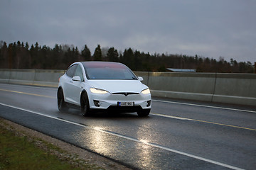
<path fill-rule="evenodd" d="M 199 106 L 199 107 L 204 107 L 204 108 L 218 108 L 218 109 L 230 110 L 230 111 L 242 111 L 242 112 L 256 113 L 256 111 L 248 111 L 248 110 L 242 110 L 242 109 L 237 109 L 237 108 L 223 108 L 223 107 L 217 107 L 217 106 L 198 105 L 198 104 L 192 104 L 192 103 L 181 103 L 181 102 L 176 102 L 176 101 L 161 101 L 161 100 L 152 100 L 152 101 L 181 104 L 181 105 L 188 105 L 188 106 Z"/>

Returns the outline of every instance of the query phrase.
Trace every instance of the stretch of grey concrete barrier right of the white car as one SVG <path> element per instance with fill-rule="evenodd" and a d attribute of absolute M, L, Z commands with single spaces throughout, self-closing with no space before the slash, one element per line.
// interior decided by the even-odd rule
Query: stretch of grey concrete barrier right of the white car
<path fill-rule="evenodd" d="M 152 96 L 256 106 L 256 74 L 135 72 Z"/>

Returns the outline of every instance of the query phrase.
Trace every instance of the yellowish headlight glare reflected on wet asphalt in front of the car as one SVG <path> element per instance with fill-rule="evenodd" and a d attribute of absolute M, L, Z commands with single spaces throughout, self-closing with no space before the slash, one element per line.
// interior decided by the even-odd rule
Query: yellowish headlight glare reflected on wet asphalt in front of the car
<path fill-rule="evenodd" d="M 132 152 L 132 157 L 136 157 L 137 162 L 142 166 L 151 167 L 155 162 L 156 157 L 152 152 L 151 135 L 145 138 L 143 130 L 137 131 L 138 140 L 136 138 L 130 138 L 132 143 L 126 142 L 124 139 L 120 139 L 118 134 L 111 135 L 112 132 L 107 132 L 102 127 L 90 127 L 90 130 L 82 130 L 79 132 L 78 139 L 83 142 L 87 148 L 90 148 L 93 152 L 110 157 L 111 155 L 126 154 L 126 152 Z M 122 135 L 120 135 L 122 136 Z M 126 137 L 124 137 L 126 138 Z M 134 145 L 132 145 L 134 144 Z M 153 163 L 153 164 L 152 164 Z M 158 165 L 156 165 L 158 166 Z M 152 169 L 153 166 L 152 166 Z"/>

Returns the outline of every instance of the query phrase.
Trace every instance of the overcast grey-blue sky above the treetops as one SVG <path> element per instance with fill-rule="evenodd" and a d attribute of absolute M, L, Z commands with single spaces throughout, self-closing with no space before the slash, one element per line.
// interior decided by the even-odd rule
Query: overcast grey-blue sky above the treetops
<path fill-rule="evenodd" d="M 1 0 L 0 40 L 256 62 L 255 0 Z"/>

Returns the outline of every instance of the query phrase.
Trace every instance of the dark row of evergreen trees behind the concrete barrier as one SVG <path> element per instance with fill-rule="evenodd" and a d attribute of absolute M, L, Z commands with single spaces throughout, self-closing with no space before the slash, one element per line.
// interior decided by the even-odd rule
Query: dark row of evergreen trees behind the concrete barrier
<path fill-rule="evenodd" d="M 133 71 L 166 72 L 166 68 L 196 69 L 196 72 L 253 73 L 251 62 L 230 62 L 198 55 L 149 54 L 131 48 L 117 51 L 114 47 L 100 47 L 94 52 L 85 45 L 80 51 L 74 45 L 58 45 L 53 48 L 46 45 L 28 45 L 28 42 L 14 42 L 9 45 L 0 41 L 1 69 L 67 69 L 77 61 L 122 62 Z"/>

